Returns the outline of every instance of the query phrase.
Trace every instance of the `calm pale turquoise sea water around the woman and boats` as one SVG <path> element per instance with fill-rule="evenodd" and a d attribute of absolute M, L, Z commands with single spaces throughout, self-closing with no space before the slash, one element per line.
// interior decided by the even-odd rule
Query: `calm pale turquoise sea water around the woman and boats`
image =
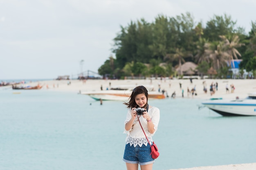
<path fill-rule="evenodd" d="M 197 99 L 149 103 L 161 114 L 154 170 L 255 162 L 256 117 L 198 110 Z M 118 101 L 0 89 L 0 170 L 125 170 L 125 118 Z"/>

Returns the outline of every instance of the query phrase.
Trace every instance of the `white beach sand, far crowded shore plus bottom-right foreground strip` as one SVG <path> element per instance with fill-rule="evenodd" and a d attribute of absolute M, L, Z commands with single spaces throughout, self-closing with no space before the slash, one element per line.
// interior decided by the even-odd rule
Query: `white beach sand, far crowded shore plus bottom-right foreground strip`
<path fill-rule="evenodd" d="M 205 81 L 207 87 L 207 93 L 203 91 L 203 82 Z M 119 85 L 154 85 L 155 90 L 158 90 L 160 85 L 160 91 L 164 89 L 168 96 L 171 96 L 173 92 L 176 92 L 176 97 L 182 97 L 182 89 L 184 89 L 184 98 L 200 98 L 200 99 L 209 99 L 209 98 L 223 98 L 223 99 L 235 99 L 237 96 L 239 98 L 247 97 L 248 93 L 256 92 L 256 79 L 193 79 L 193 83 L 189 79 L 183 80 L 70 80 L 71 84 L 68 85 L 67 80 L 57 81 L 41 81 L 39 82 L 43 85 L 43 89 L 47 90 L 56 90 L 63 92 L 74 92 L 78 93 L 79 91 L 93 91 L 100 90 L 101 85 L 103 89 L 110 88 L 113 86 Z M 211 95 L 209 87 L 211 83 L 218 82 L 218 91 L 216 90 L 215 94 Z M 38 82 L 29 83 L 31 85 L 37 85 Z M 111 85 L 110 85 L 111 83 Z M 182 83 L 182 88 L 180 84 Z M 234 84 L 235 90 L 234 93 L 231 93 L 230 85 Z M 229 93 L 226 92 L 226 85 L 229 87 Z M 48 87 L 48 88 L 47 88 Z M 187 93 L 187 88 L 190 90 L 195 87 L 197 96 L 191 96 Z M 231 165 L 222 165 L 222 166 L 205 166 L 205 167 L 194 167 L 194 168 L 183 168 L 178 170 L 255 170 L 256 163 L 245 163 L 245 164 L 231 164 Z"/>

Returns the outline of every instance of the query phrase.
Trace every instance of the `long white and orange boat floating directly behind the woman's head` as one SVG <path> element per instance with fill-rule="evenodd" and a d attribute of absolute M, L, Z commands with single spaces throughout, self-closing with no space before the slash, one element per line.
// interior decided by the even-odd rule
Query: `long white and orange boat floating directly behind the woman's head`
<path fill-rule="evenodd" d="M 146 87 L 146 86 L 145 86 Z M 110 90 L 99 90 L 99 91 L 90 91 L 90 92 L 81 92 L 90 96 L 95 100 L 121 100 L 127 101 L 132 94 L 132 88 L 128 86 L 116 86 L 112 87 Z M 150 99 L 164 99 L 164 94 L 154 91 L 152 86 L 146 87 L 148 89 L 148 98 Z"/>

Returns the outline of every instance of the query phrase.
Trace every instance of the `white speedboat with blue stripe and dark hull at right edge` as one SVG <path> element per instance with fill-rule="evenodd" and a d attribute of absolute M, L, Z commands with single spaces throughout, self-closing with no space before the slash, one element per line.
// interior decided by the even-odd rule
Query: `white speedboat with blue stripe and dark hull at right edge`
<path fill-rule="evenodd" d="M 217 98 L 204 101 L 202 104 L 222 116 L 256 116 L 256 93 L 249 94 L 245 99 Z"/>

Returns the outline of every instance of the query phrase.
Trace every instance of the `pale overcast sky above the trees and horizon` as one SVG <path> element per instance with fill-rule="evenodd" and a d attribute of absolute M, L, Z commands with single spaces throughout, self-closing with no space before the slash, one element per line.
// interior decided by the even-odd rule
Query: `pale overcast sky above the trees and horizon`
<path fill-rule="evenodd" d="M 130 21 L 189 12 L 205 26 L 226 13 L 248 33 L 255 9 L 255 0 L 0 0 L 0 81 L 98 72 Z"/>

